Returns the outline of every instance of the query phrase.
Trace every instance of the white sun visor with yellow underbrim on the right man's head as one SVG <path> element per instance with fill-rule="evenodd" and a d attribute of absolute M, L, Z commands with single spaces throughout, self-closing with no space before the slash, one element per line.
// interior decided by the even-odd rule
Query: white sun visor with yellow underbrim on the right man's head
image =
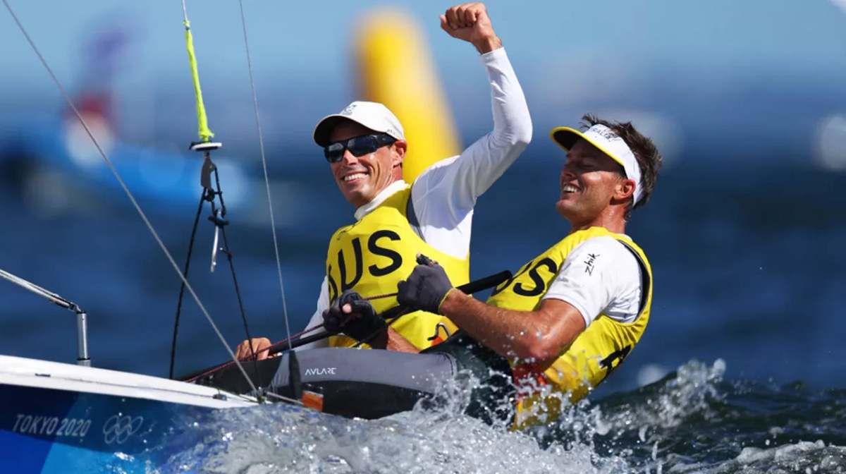
<path fill-rule="evenodd" d="M 640 201 L 643 187 L 640 183 L 640 165 L 626 142 L 603 124 L 596 124 L 584 133 L 569 127 L 558 127 L 549 133 L 558 145 L 569 152 L 580 138 L 589 141 L 591 145 L 611 157 L 615 162 L 623 165 L 626 178 L 634 180 L 634 203 Z"/>

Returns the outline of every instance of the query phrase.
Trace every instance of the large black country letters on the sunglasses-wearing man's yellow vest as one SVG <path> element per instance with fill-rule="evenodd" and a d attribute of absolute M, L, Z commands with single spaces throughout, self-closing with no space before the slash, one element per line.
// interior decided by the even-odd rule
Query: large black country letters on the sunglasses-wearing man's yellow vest
<path fill-rule="evenodd" d="M 334 300 L 344 291 L 354 288 L 359 283 L 361 277 L 364 276 L 365 270 L 374 277 L 384 277 L 389 273 L 396 272 L 399 267 L 403 266 L 403 256 L 393 250 L 387 245 L 390 242 L 400 240 L 399 234 L 393 230 L 377 230 L 367 237 L 366 247 L 362 245 L 360 237 L 355 237 L 350 241 L 349 246 L 338 251 L 337 260 L 330 263 L 327 267 L 327 279 L 329 282 L 329 300 Z M 367 256 L 383 257 L 379 262 L 384 262 L 383 265 L 376 263 L 368 265 L 365 268 L 365 248 Z M 344 251 L 347 251 L 345 254 Z M 350 258 L 349 253 L 352 253 Z M 387 259 L 387 260 L 386 260 Z M 367 260 L 371 261 L 372 258 Z M 352 267 L 348 267 L 350 261 Z M 337 269 L 337 274 L 335 270 Z M 336 279 L 337 277 L 337 279 Z"/>

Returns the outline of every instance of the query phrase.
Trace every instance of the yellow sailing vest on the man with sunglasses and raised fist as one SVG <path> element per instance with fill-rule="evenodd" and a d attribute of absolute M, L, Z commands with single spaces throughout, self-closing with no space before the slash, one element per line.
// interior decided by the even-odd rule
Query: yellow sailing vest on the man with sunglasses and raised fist
<path fill-rule="evenodd" d="M 470 279 L 470 254 L 463 259 L 450 256 L 426 244 L 411 227 L 406 208 L 411 185 L 389 196 L 360 221 L 335 231 L 327 252 L 326 274 L 330 304 L 347 289 L 364 297 L 397 292 L 399 280 L 409 277 L 422 253 L 440 264 L 455 286 Z M 397 306 L 396 296 L 371 300 L 376 312 Z M 418 349 L 425 349 L 444 339 L 437 336 L 438 323 L 453 333 L 447 318 L 426 311 L 415 311 L 396 319 L 391 327 Z M 443 331 L 440 331 L 444 334 Z M 354 339 L 339 334 L 329 338 L 332 347 L 349 347 Z M 361 347 L 369 347 L 361 344 Z"/>

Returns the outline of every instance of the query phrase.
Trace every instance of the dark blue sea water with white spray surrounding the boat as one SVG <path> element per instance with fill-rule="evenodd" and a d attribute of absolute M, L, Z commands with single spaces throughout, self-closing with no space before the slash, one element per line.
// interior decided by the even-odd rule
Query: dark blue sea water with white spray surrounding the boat
<path fill-rule="evenodd" d="M 528 155 L 530 162 L 541 163 Z M 557 174 L 555 163 L 515 165 L 482 196 L 474 277 L 515 270 L 566 234 L 553 206 Z M 284 306 L 269 227 L 240 223 L 235 213 L 227 227 L 247 328 L 273 340 L 286 337 L 286 311 L 294 332 L 311 317 L 327 239 L 352 220 L 327 176 L 290 169 L 277 179 L 304 190 L 299 200 L 274 201 L 292 210 L 279 222 Z M 120 204 L 125 196 L 74 190 L 53 202 L 62 212 L 47 212 L 12 181 L 0 190 L 0 267 L 88 311 L 94 366 L 168 377 L 179 278 L 137 213 Z M 844 185 L 844 174 L 786 165 L 662 174 L 627 229 L 655 275 L 649 326 L 602 387 L 546 427 L 510 433 L 458 411 L 365 422 L 259 406 L 188 427 L 190 449 L 159 469 L 846 471 Z M 194 215 L 141 205 L 181 267 Z M 225 255 L 210 272 L 212 239 L 202 218 L 190 281 L 234 347 L 246 336 L 244 319 Z M 0 299 L 4 354 L 74 361 L 72 313 L 13 284 L 0 285 Z M 174 375 L 228 357 L 186 294 Z M 113 471 L 126 462 L 116 454 Z"/>

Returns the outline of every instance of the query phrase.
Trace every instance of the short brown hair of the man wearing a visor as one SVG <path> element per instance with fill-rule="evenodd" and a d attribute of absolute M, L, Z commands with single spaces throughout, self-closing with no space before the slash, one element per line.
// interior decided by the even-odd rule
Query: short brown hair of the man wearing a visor
<path fill-rule="evenodd" d="M 624 218 L 629 220 L 629 218 L 631 218 L 632 209 L 645 205 L 646 201 L 649 201 L 649 196 L 651 196 L 652 190 L 655 189 L 658 172 L 661 170 L 662 166 L 661 154 L 658 152 L 657 147 L 654 143 L 652 143 L 651 139 L 637 131 L 631 122 L 609 122 L 597 117 L 596 114 L 593 113 L 586 113 L 582 117 L 582 120 L 584 120 L 584 122 L 582 122 L 584 130 L 589 129 L 596 124 L 605 125 L 622 138 L 623 141 L 626 142 L 626 145 L 628 145 L 634 153 L 634 158 L 637 160 L 637 164 L 640 167 L 640 183 L 638 185 L 641 185 L 641 195 L 640 201 L 637 201 L 637 204 L 634 204 L 634 206 L 632 206 L 632 203 L 634 202 L 634 196 L 632 196 L 629 206 L 626 207 Z"/>

